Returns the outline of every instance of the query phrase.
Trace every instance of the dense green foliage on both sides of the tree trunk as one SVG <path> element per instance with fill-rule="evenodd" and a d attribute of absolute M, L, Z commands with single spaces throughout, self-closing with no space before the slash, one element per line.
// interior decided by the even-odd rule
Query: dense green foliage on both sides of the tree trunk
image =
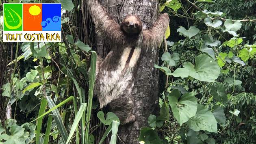
<path fill-rule="evenodd" d="M 111 132 L 109 143 L 115 144 L 120 121 L 112 112 L 105 118 L 93 99 L 96 53 L 78 32 L 81 1 L 43 2 L 62 3 L 65 37 L 61 43 L 11 45 L 11 78 L 0 95 L 8 98 L 14 119 L 0 125 L 0 143 L 93 144 L 93 132 L 103 126 L 99 143 Z M 139 142 L 256 143 L 256 2 L 160 2 L 160 11 L 169 13 L 171 25 L 160 64 L 154 67 L 163 72 L 161 81 L 166 82 L 160 86 L 164 91 L 159 115 L 150 114 L 145 120 L 148 127 L 141 128 Z M 96 125 L 92 111 L 98 112 Z"/>

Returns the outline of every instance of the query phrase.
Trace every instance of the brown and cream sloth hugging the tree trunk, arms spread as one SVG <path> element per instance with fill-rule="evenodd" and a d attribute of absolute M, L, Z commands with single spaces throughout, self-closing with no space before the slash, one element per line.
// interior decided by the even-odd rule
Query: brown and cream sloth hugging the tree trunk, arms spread
<path fill-rule="evenodd" d="M 119 25 L 98 0 L 86 2 L 96 34 L 104 39 L 105 46 L 111 47 L 107 56 L 97 58 L 96 62 L 95 95 L 100 109 L 108 106 L 121 125 L 131 123 L 135 120 L 131 92 L 141 55 L 161 45 L 169 16 L 160 15 L 152 28 L 143 30 L 142 21 L 136 15 L 127 15 Z"/>

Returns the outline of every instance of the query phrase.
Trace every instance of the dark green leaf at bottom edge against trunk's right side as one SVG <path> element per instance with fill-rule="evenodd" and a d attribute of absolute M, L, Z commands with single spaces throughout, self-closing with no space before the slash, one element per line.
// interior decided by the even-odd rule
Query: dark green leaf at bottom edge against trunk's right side
<path fill-rule="evenodd" d="M 144 141 L 145 144 L 161 144 L 161 139 L 153 129 L 148 127 L 141 128 L 139 134 L 139 142 Z"/>

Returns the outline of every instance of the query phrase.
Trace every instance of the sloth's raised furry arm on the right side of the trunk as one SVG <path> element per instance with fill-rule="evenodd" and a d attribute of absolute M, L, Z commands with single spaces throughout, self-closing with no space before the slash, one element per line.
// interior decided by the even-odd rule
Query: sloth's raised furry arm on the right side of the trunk
<path fill-rule="evenodd" d="M 163 42 L 168 25 L 169 16 L 164 13 L 156 20 L 152 28 L 143 31 L 143 48 L 159 47 Z"/>

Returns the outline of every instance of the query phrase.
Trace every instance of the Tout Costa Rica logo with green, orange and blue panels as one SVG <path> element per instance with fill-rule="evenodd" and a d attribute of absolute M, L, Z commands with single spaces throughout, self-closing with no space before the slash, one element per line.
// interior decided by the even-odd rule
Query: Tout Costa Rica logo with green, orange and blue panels
<path fill-rule="evenodd" d="M 61 3 L 4 3 L 4 42 L 61 42 Z"/>

